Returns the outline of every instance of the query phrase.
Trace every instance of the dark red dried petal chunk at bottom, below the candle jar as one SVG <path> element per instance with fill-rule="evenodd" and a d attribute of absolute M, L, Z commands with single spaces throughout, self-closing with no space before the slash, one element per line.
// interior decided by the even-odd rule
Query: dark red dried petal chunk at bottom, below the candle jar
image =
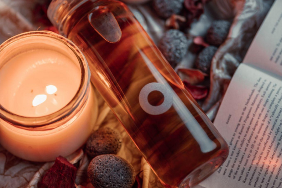
<path fill-rule="evenodd" d="M 38 188 L 74 188 L 76 167 L 62 156 L 56 158 L 55 163 L 38 182 Z"/>

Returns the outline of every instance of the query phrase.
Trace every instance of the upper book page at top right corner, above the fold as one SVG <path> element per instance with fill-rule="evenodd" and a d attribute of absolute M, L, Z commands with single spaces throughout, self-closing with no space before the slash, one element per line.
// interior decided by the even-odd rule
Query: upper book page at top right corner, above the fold
<path fill-rule="evenodd" d="M 243 63 L 282 76 L 282 0 L 275 0 Z"/>

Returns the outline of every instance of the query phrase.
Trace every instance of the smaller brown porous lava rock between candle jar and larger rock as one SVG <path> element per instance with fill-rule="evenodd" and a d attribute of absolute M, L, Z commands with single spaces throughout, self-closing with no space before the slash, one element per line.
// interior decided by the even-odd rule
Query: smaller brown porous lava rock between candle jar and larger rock
<path fill-rule="evenodd" d="M 121 148 L 120 134 L 104 127 L 95 131 L 86 142 L 86 153 L 94 158 L 102 154 L 117 154 Z"/>

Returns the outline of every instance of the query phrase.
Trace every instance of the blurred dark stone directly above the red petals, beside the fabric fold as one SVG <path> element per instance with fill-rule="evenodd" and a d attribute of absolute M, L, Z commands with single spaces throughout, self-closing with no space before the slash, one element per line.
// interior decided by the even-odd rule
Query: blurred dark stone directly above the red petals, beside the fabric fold
<path fill-rule="evenodd" d="M 211 69 L 212 57 L 217 51 L 217 47 L 208 46 L 202 50 L 197 59 L 195 66 L 197 69 L 200 69 L 202 72 L 209 74 Z"/>

